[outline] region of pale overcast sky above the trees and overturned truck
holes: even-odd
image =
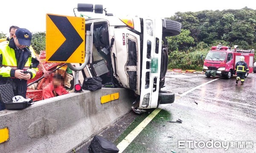
[[[8,34],[12,25],[27,28],[32,33],[46,31],[46,14],[74,16],[78,3],[102,4],[115,16],[171,17],[175,12],[241,9],[256,10],[254,0],[1,0],[0,32]],[[77,12],[76,15],[93,13]]]

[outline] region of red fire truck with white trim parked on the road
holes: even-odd
[[[253,72],[253,50],[241,50],[234,46],[231,49],[228,46],[212,46],[204,59],[203,71],[207,77],[224,76],[230,79],[233,75],[236,75],[235,65],[240,60],[240,57],[244,56],[245,62],[249,67],[249,72],[245,74],[245,77],[249,73]]]

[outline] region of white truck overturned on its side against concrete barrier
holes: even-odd
[[[137,111],[174,102],[175,94],[161,91],[161,88],[168,65],[166,37],[180,34],[179,22],[150,17],[115,17],[102,5],[93,7],[93,4],[79,3],[77,11],[105,11],[106,15],[85,18],[90,46],[86,46],[88,63],[85,71],[82,70],[84,77],[99,76],[103,85],[113,83],[115,88],[130,89],[137,97],[134,102]]]

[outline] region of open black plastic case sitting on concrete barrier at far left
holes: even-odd
[[[0,85],[0,99],[4,102],[6,109],[8,110],[19,110],[24,109],[31,104],[29,102],[13,102],[14,97],[12,86],[10,84]]]

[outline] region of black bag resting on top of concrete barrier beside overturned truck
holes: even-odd
[[[102,78],[100,77],[87,77],[83,82],[83,89],[89,91],[96,91],[102,88]]]

